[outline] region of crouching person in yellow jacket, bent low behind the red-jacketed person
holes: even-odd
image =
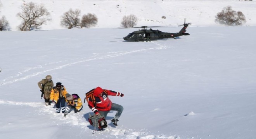
[[[64,113],[64,117],[70,112],[71,109],[74,109],[74,112],[80,112],[83,109],[83,103],[81,98],[77,94],[70,95],[69,93],[66,94],[66,102],[67,107]]]

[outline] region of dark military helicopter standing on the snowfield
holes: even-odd
[[[166,38],[174,38],[183,35],[190,35],[186,33],[187,27],[191,23],[186,23],[186,19],[184,19],[183,28],[178,33],[169,33],[169,32],[162,32],[159,30],[147,29],[147,26],[142,27],[131,27],[131,28],[142,28],[139,31],[133,31],[132,33],[128,34],[126,37],[123,37],[125,41],[150,41],[150,40],[157,40],[157,39],[166,39]],[[179,26],[182,26],[179,25]],[[173,27],[173,26],[152,26],[152,27]],[[126,28],[127,29],[127,28]]]

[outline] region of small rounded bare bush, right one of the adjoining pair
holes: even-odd
[[[98,18],[95,14],[88,13],[87,15],[83,15],[81,20],[81,28],[86,27],[89,28],[91,26],[97,25]]]

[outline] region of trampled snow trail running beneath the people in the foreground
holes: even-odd
[[[55,108],[52,106],[45,106],[42,102],[12,102],[12,101],[4,101],[0,100],[0,105],[21,105],[21,106],[29,106],[29,107],[38,107],[37,113],[39,115],[50,115],[51,119],[54,119],[56,124],[58,124],[58,121],[64,124],[68,125],[75,125],[80,126],[81,128],[91,131],[87,126],[90,125],[89,122],[85,121],[83,116],[80,114],[71,113],[68,115],[68,117],[64,117],[59,113],[55,113]],[[159,110],[159,109],[155,109]],[[190,112],[191,113],[191,112]],[[83,122],[81,122],[83,120]],[[147,132],[137,132],[133,131],[132,129],[117,129],[117,128],[107,128],[104,132],[109,132],[110,135],[116,136],[125,136],[127,139],[180,139],[180,137],[175,136],[165,136],[165,135],[148,135]],[[102,132],[97,132],[96,134],[101,134]]]

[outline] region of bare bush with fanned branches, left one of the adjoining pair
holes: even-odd
[[[81,10],[79,9],[76,9],[75,11],[73,11],[72,9],[69,9],[69,11],[65,12],[62,15],[61,25],[63,27],[67,27],[68,29],[72,29],[73,27],[79,27],[80,14],[81,14]]]

